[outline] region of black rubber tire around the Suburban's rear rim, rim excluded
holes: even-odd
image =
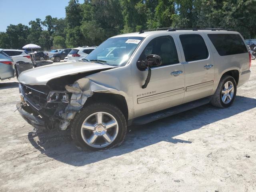
[[[233,95],[231,101],[229,103],[225,104],[222,101],[222,88],[223,88],[224,84],[228,81],[232,82],[234,85],[234,95]],[[216,89],[216,92],[211,97],[210,103],[213,106],[218,107],[218,108],[227,108],[234,102],[235,97],[236,97],[236,81],[232,76],[225,75],[225,76],[222,76],[222,78],[220,79],[219,85]]]

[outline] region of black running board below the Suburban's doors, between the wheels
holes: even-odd
[[[202,98],[199,100],[195,100],[192,102],[188,102],[188,103],[185,103],[182,105],[178,105],[175,107],[171,107],[171,108],[168,108],[165,110],[161,110],[158,112],[154,112],[151,114],[147,114],[147,115],[135,118],[131,124],[143,125],[143,124],[150,123],[150,122],[158,120],[158,119],[162,119],[162,118],[165,118],[168,116],[178,114],[180,112],[184,112],[184,111],[208,104],[209,102],[210,102],[210,97],[205,97],[205,98]]]

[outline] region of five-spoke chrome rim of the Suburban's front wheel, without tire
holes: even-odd
[[[88,116],[81,126],[84,142],[94,148],[111,144],[118,134],[116,118],[107,112],[96,112]]]

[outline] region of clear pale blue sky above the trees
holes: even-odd
[[[69,0],[0,0],[0,32],[10,24],[28,25],[31,20],[45,16],[64,18]],[[79,0],[83,3],[83,0]]]

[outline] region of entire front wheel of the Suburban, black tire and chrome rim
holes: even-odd
[[[70,122],[71,137],[80,150],[104,150],[119,146],[127,131],[120,109],[108,103],[83,108]]]

